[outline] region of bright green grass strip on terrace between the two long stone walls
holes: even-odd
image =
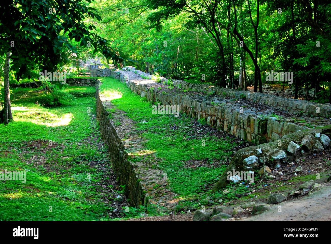
[[[186,168],[185,162],[208,160],[212,163],[223,156],[229,157],[235,143],[229,137],[219,139],[208,133],[203,138],[191,137],[195,130],[190,127],[191,118],[152,114],[152,105],[132,93],[124,83],[113,78],[102,78],[101,81],[101,93],[136,122],[137,130],[146,139],[145,149],[160,159],[159,168],[166,172],[171,190],[184,200],[203,199],[210,195],[205,185],[213,185],[226,167]],[[173,126],[178,129],[173,130]],[[206,146],[202,146],[202,140]],[[135,157],[135,160],[146,159]]]

